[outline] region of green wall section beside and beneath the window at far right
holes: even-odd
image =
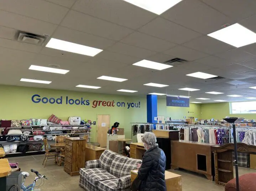
[[[202,119],[223,119],[229,117],[244,117],[245,119],[256,119],[256,114],[230,114],[229,102],[206,103],[201,106]]]

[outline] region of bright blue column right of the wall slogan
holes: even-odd
[[[157,117],[157,95],[147,95],[147,123],[155,123],[154,117]]]

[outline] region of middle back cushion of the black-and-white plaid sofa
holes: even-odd
[[[124,164],[126,164],[127,159],[127,157],[124,157],[122,155],[116,155],[113,159],[113,162],[111,163],[109,172],[114,176],[120,178],[122,168],[124,167]]]

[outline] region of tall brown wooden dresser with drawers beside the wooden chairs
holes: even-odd
[[[79,175],[79,169],[85,167],[86,142],[80,137],[66,139],[64,171],[70,176]]]

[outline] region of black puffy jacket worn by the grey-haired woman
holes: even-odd
[[[138,179],[141,180],[139,191],[166,191],[165,166],[166,157],[163,150],[158,148],[158,145],[148,149],[138,172]]]

